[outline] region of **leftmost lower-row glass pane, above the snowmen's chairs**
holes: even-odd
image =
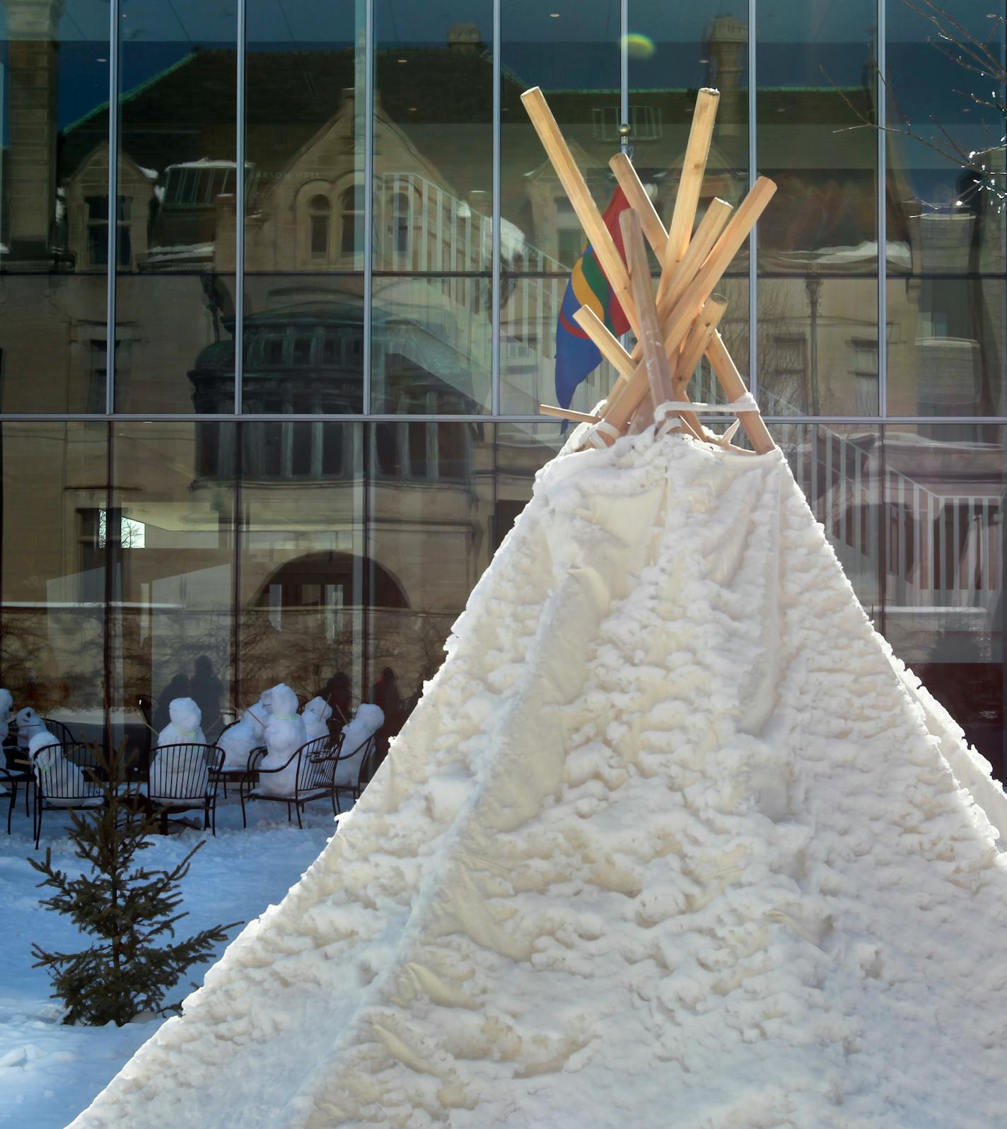
[[[102,423],[5,423],[0,660],[15,709],[100,737],[108,495]]]

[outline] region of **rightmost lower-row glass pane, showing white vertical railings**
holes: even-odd
[[[885,627],[899,655],[1004,771],[1004,429],[885,429]]]

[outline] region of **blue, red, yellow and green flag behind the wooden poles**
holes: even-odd
[[[622,246],[619,217],[625,208],[629,208],[629,201],[623,195],[622,189],[616,189],[612,202],[602,217],[605,227],[612,233],[623,262],[625,262],[625,251]],[[622,306],[616,301],[615,291],[610,286],[589,243],[585,244],[580,257],[573,264],[555,327],[555,395],[561,408],[570,406],[577,385],[586,380],[602,362],[598,347],[573,321],[573,314],[581,306],[593,309],[616,338],[629,329]]]

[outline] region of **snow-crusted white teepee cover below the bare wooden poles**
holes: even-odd
[[[647,419],[540,473],[339,833],[75,1127],[1007,1123],[1004,794],[758,413],[669,431],[708,296],[663,367],[627,231]]]

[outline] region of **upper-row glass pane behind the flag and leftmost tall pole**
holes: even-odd
[[[557,317],[584,233],[520,94],[542,87],[604,209],[615,186],[608,159],[619,148],[619,5],[585,0],[554,17],[537,0],[510,0],[500,34],[500,409],[535,414],[541,402],[555,402]],[[593,408],[614,378],[603,362],[572,406]]]

